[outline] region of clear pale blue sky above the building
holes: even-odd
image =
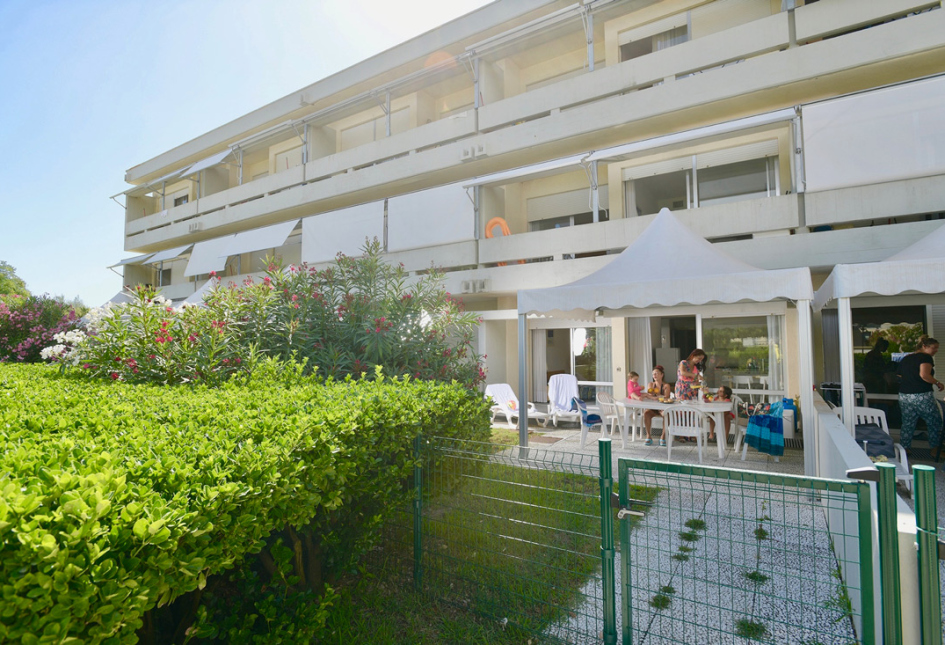
[[[487,3],[0,0],[0,260],[104,303],[125,170]]]

